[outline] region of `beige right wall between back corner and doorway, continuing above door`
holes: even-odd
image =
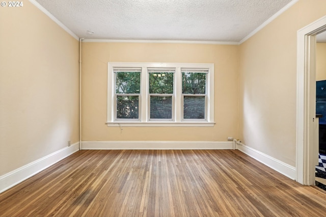
[[[326,1],[300,0],[240,45],[240,139],[295,166],[296,32],[326,15]]]

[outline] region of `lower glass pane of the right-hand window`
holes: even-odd
[[[183,97],[183,119],[205,119],[205,96]]]

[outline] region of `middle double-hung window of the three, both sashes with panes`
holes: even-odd
[[[173,121],[175,69],[148,68],[149,120]]]

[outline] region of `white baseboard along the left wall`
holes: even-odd
[[[14,185],[34,176],[42,170],[50,167],[63,158],[75,153],[79,150],[79,142],[72,144],[70,147],[63,148],[59,151],[51,153],[45,157],[31,162],[28,165],[20,167],[5,175],[0,176],[0,193],[13,187]]]

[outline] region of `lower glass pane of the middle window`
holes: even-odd
[[[172,96],[151,96],[151,119],[172,119]]]

